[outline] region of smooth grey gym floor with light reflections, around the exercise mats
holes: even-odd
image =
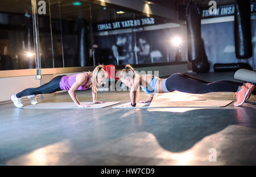
[[[195,76],[233,80],[233,73]],[[77,95],[82,102],[92,101],[90,90]],[[218,92],[196,98],[232,96]],[[71,102],[67,93],[38,100]],[[129,102],[129,92],[98,92],[98,100]],[[232,103],[207,109],[19,109],[1,104],[0,165],[256,165],[255,115],[255,95],[241,107]]]

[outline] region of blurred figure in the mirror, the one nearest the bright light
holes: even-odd
[[[150,44],[147,43],[146,37],[139,37],[138,46],[135,46],[134,50],[138,52],[138,63],[150,62]]]

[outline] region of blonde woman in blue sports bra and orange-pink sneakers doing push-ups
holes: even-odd
[[[234,106],[242,105],[249,99],[251,93],[255,94],[255,86],[251,83],[240,83],[233,81],[207,82],[199,78],[192,77],[185,73],[175,73],[167,79],[161,79],[154,75],[137,74],[131,65],[126,65],[119,76],[121,82],[130,90],[131,106],[135,107],[139,97],[139,87],[150,97],[140,103],[151,102],[155,93],[172,91],[186,92],[189,94],[205,94],[208,92],[235,92],[237,102]]]

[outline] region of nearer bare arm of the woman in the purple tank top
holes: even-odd
[[[68,94],[71,97],[71,99],[73,100],[73,102],[76,104],[76,106],[78,107],[88,107],[88,106],[84,106],[82,105],[79,100],[76,98],[76,91],[77,89],[85,83],[85,81],[87,80],[87,75],[77,75],[76,76],[76,82],[72,85],[72,87],[68,90]]]

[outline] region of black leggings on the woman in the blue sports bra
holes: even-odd
[[[207,82],[185,73],[172,74],[166,80],[168,91],[181,91],[189,94],[205,94],[208,92],[237,92],[243,83],[233,81]]]

